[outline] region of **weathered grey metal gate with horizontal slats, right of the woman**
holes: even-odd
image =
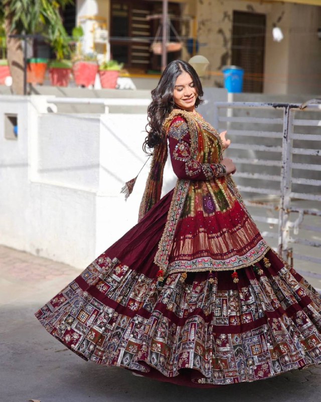
[[[321,105],[214,107],[214,127],[228,130],[226,156],[238,166],[235,181],[263,237],[321,288]]]

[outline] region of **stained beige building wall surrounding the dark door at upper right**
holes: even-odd
[[[321,26],[321,7],[281,2],[198,1],[200,54],[209,59],[210,70],[214,73],[208,77],[208,86],[222,85],[223,78],[215,72],[231,64],[233,11],[266,15],[265,93],[321,92],[321,41],[316,35]],[[281,42],[273,41],[274,24],[284,34]]]

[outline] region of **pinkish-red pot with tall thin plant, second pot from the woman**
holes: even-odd
[[[83,54],[80,42],[84,36],[84,31],[81,26],[73,29],[72,36],[76,43],[72,67],[76,85],[93,86],[98,72],[97,57],[94,53]]]

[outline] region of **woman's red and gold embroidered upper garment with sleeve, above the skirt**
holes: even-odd
[[[222,160],[217,131],[199,114],[175,110],[164,124],[178,176],[155,263],[173,272],[235,270],[268,250]]]

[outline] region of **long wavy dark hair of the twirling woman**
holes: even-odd
[[[152,100],[147,109],[147,137],[142,146],[146,153],[150,153],[148,150],[156,147],[165,140],[162,126],[164,120],[169,116],[172,110],[176,108],[173,99],[174,87],[178,76],[181,75],[182,72],[190,74],[194,82],[198,94],[195,106],[198,107],[198,105],[203,102],[203,100],[200,99],[200,97],[203,96],[201,80],[191,64],[183,60],[175,60],[169,63],[163,71],[156,88],[151,91]]]

